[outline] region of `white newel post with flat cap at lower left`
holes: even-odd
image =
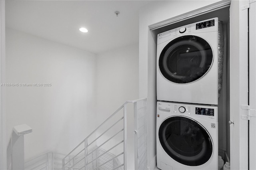
[[[13,127],[7,146],[7,169],[24,170],[24,134],[32,132],[28,125]]]

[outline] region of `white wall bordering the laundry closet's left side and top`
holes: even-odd
[[[148,126],[149,169],[156,166],[156,35],[148,26],[218,1],[156,1],[140,10],[139,97],[148,98],[148,125],[151,125]]]

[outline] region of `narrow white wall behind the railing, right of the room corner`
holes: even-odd
[[[130,45],[128,47],[122,47],[97,55],[97,126],[100,125],[100,123],[102,123],[112,113],[114,113],[114,111],[116,111],[126,101],[138,99],[138,56],[138,44]],[[118,114],[122,115],[122,113],[123,110],[121,110]],[[133,105],[129,104],[127,114],[128,170],[134,169],[133,118]],[[111,122],[115,123],[114,120],[116,119],[111,119]],[[122,128],[120,127],[119,129]],[[114,133],[112,133],[108,137],[105,137],[105,140],[112,135],[114,135]],[[118,142],[120,141],[118,139],[116,140]],[[114,146],[113,143],[114,142],[112,142],[112,146]],[[110,146],[106,147],[110,148]],[[113,153],[117,155],[120,153],[120,150],[114,150]],[[122,160],[120,160],[120,162],[122,162]]]

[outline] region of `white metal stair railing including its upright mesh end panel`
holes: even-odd
[[[134,127],[130,127],[134,136],[134,157],[128,160],[127,155],[127,104],[134,104]],[[147,169],[147,111],[146,99],[127,101],[119,107],[98,128],[89,134],[62,160],[62,170],[120,170]],[[132,115],[129,113],[129,115]],[[131,136],[130,136],[131,138]],[[129,138],[129,140],[130,140]],[[91,149],[91,147],[96,149]],[[104,149],[102,149],[104,148]],[[90,151],[92,150],[92,151]],[[97,154],[94,153],[98,150]],[[80,155],[83,156],[80,156]],[[66,158],[71,156],[71,160]],[[80,159],[76,160],[76,157]],[[120,162],[116,161],[119,160]],[[75,161],[71,163],[70,162]],[[128,165],[133,161],[134,166]],[[129,167],[128,167],[129,166]]]

